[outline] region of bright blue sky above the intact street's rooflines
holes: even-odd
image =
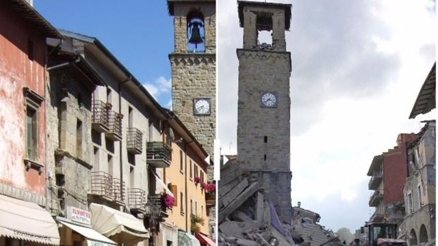
[[[58,29],[98,38],[169,107],[173,18],[166,1],[35,0],[34,8]]]

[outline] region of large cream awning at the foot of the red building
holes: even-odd
[[[0,236],[60,245],[57,224],[47,210],[5,195],[0,195]]]

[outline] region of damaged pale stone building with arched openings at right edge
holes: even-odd
[[[427,122],[411,143],[408,152],[408,177],[404,184],[403,234],[409,245],[435,241],[436,172],[435,120]]]

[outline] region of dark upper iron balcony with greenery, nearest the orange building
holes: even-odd
[[[170,167],[172,148],[162,141],[148,142],[146,148],[146,163],[153,167]]]

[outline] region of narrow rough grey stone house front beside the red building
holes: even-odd
[[[92,92],[68,67],[50,70],[47,97],[49,208],[65,216],[66,206],[88,210],[92,169]],[[81,132],[77,124],[81,122]],[[79,139],[78,139],[79,137]],[[78,146],[77,144],[81,146]]]

